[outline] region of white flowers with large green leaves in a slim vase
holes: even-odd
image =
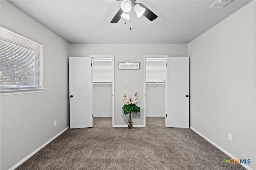
[[[124,106],[123,106],[123,112],[124,115],[127,115],[129,113],[129,121],[128,121],[128,128],[132,128],[132,119],[131,119],[131,113],[138,113],[140,112],[140,107],[136,106],[137,103],[137,92],[134,94],[134,97],[131,99],[128,99],[126,97],[126,93],[124,94]]]

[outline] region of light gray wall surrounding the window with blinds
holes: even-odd
[[[6,170],[69,126],[69,43],[9,2],[0,3],[3,26],[43,44],[43,86],[47,88],[41,93],[1,96],[0,169]]]

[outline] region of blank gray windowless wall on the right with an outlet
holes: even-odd
[[[256,169],[256,4],[250,2],[192,42],[190,126]],[[233,142],[228,140],[233,134]]]

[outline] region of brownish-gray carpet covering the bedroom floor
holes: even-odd
[[[112,128],[112,118],[93,118],[93,128],[68,129],[17,170],[243,170],[189,128],[167,128],[147,117],[145,128]]]

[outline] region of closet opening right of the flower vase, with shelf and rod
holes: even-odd
[[[146,117],[165,117],[166,57],[144,56],[144,121]]]

